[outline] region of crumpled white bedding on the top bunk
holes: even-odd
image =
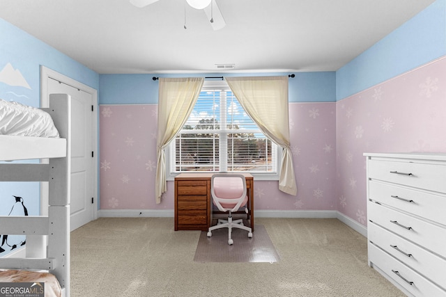
[[[0,134],[60,137],[49,113],[18,102],[0,99]]]

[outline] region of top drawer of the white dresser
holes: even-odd
[[[369,179],[446,193],[446,166],[443,165],[371,159],[368,173]]]

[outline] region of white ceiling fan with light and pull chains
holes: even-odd
[[[155,3],[160,0],[130,0],[134,6],[142,8],[144,6],[148,6],[149,4]],[[217,2],[215,0],[185,0],[190,7],[204,10],[206,16],[209,19],[210,25],[214,30],[220,30],[224,26],[226,26],[226,22],[224,22],[224,18],[220,8],[217,6]],[[186,29],[186,26],[184,26]]]

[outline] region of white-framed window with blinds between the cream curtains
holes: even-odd
[[[171,175],[227,171],[278,177],[277,145],[245,113],[226,81],[204,82],[194,110],[169,150]]]

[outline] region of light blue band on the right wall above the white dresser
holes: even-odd
[[[437,0],[336,72],[337,101],[445,54],[446,0]]]

